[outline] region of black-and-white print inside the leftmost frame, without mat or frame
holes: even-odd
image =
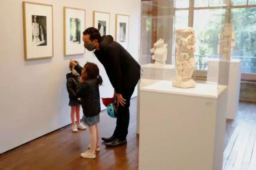
[[[32,15],[32,46],[47,46],[47,18]]]

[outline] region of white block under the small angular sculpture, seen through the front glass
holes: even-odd
[[[145,64],[142,65],[142,79],[174,80],[175,66],[170,64]]]

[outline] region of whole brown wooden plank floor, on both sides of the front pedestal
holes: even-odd
[[[136,98],[132,100],[127,146],[107,149],[96,159],[84,159],[89,131],[71,132],[70,125],[0,155],[0,170],[137,170]],[[256,170],[256,104],[240,103],[234,121],[227,121],[224,170]],[[101,114],[101,136],[111,136],[115,119]],[[168,170],[168,169],[167,169]]]

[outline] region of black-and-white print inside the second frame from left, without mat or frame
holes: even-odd
[[[81,21],[78,18],[70,18],[70,42],[81,43]]]

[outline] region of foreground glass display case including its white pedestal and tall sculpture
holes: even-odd
[[[234,33],[231,1],[218,2],[142,2],[139,170],[222,169]]]

